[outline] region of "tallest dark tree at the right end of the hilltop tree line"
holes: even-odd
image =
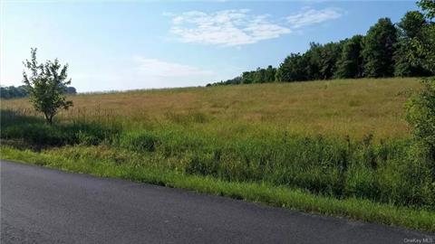
[[[423,38],[423,28],[427,25],[426,19],[419,11],[410,11],[406,13],[401,22],[397,24],[399,27],[399,41],[394,52],[394,75],[395,76],[428,76],[430,71],[422,67],[422,59],[417,54],[416,47],[411,44],[416,40],[421,41]],[[412,41],[414,40],[414,41]],[[411,60],[413,58],[413,60]]]

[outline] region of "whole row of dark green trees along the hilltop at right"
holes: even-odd
[[[431,1],[429,1],[431,2]],[[310,43],[304,53],[291,53],[274,68],[243,72],[234,79],[207,86],[304,80],[427,77],[435,75],[423,63],[430,57],[419,52],[419,45],[430,41],[434,22],[419,11],[404,14],[399,23],[381,18],[364,35],[339,42]]]

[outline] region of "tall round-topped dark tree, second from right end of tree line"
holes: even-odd
[[[396,28],[389,18],[381,18],[364,37],[364,76],[391,77],[394,71],[392,60],[394,44],[397,41]]]

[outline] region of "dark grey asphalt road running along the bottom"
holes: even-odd
[[[145,183],[5,161],[0,168],[2,244],[435,243],[412,230]]]

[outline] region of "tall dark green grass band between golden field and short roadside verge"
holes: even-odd
[[[336,136],[282,134],[233,138],[165,126],[152,130],[123,129],[81,121],[47,126],[32,117],[2,116],[2,138],[22,148],[40,150],[64,145],[105,145],[88,152],[100,160],[101,150],[147,156],[166,169],[190,175],[212,176],[237,183],[269,183],[299,188],[338,199],[358,197],[417,209],[435,209],[433,169],[424,159],[411,158],[410,139],[373,143]],[[32,122],[29,122],[32,121]],[[57,151],[77,157],[71,149]],[[95,147],[90,147],[95,148]],[[82,151],[81,151],[82,152]],[[95,155],[96,154],[96,155]],[[412,155],[413,157],[414,155]]]

